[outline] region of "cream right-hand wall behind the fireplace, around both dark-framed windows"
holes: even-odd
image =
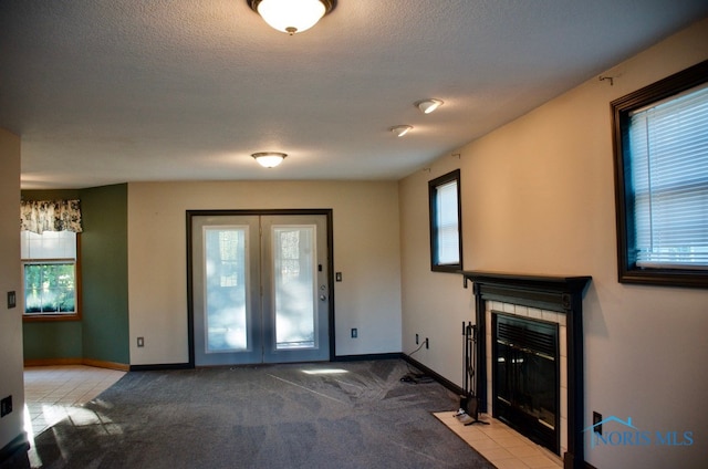
[[[473,319],[471,290],[429,271],[429,179],[461,168],[466,270],[593,277],[584,303],[586,424],[597,410],[695,439],[690,447],[587,444],[585,459],[597,468],[705,465],[708,292],[617,282],[610,102],[706,59],[708,20],[603,73],[614,86],[593,77],[454,152],[459,161],[444,156],[399,184],[404,350],[416,332],[430,334],[418,359],[458,384],[461,353],[446,341]]]

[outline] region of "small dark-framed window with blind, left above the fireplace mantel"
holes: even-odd
[[[430,268],[440,272],[462,270],[460,170],[428,183],[430,201]]]

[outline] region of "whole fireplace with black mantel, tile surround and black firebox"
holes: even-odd
[[[582,306],[591,277],[470,271],[462,275],[466,288],[469,281],[473,283],[478,327],[475,388],[480,411],[504,420],[560,455],[565,469],[583,468]],[[501,344],[497,340],[500,321]],[[534,344],[518,345],[533,335]],[[537,347],[541,350],[529,345],[541,345]],[[551,356],[554,358],[549,359]],[[494,372],[500,358],[503,369]],[[522,364],[532,364],[537,376],[529,377],[529,367]],[[552,384],[553,390],[542,383]],[[510,385],[519,385],[512,395]]]

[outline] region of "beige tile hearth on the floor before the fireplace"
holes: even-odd
[[[454,411],[436,413],[435,416],[499,469],[563,467],[560,457],[486,414],[480,415],[479,419],[490,425],[468,427],[458,421]]]

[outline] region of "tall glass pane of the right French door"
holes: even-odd
[[[273,226],[275,350],[316,347],[315,226]]]

